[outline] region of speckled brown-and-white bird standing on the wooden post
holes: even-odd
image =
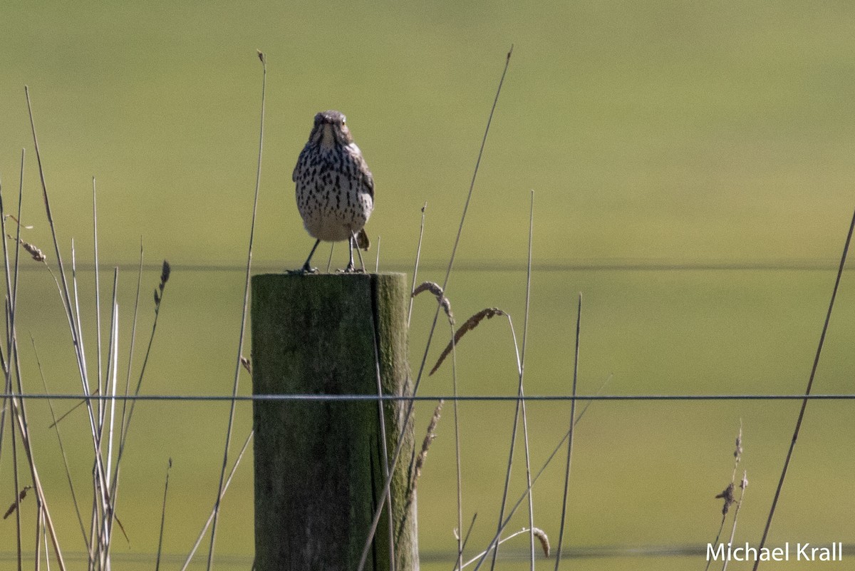
[[[297,209],[315,245],[298,274],[311,274],[312,255],[321,240],[347,240],[351,259],[345,273],[355,272],[353,247],[369,248],[365,223],[374,210],[374,176],[353,142],[345,115],[321,111],[294,167]],[[363,268],[364,271],[364,268]]]

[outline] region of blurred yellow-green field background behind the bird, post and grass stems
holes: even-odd
[[[610,379],[607,393],[798,393],[852,212],[853,22],[849,3],[6,2],[0,8],[3,196],[15,203],[26,148],[23,221],[35,227],[24,238],[54,262],[24,97],[29,85],[63,255],[68,262],[74,238],[78,262],[88,268],[80,290],[90,368],[95,176],[102,285],[120,265],[125,349],[140,237],[150,264],[143,276],[144,331],[159,262],[168,258],[174,266],[143,391],[228,394],[257,167],[256,50],[268,57],[256,270],[303,262],[311,240],[294,208],[291,172],[315,112],[340,109],[374,172],[368,230],[380,242],[380,268],[411,272],[427,201],[420,278],[441,281],[504,56],[514,44],[448,290],[458,321],[498,306],[522,332],[534,190],[529,393],[569,392],[580,291],[581,392],[598,391]],[[328,250],[320,252],[319,264]],[[375,253],[369,252],[372,264]],[[333,264],[344,259],[339,246]],[[21,284],[18,322],[25,384],[41,390],[31,333],[50,388],[78,391],[56,286],[44,268],[31,269]],[[414,368],[432,317],[432,304],[417,299]],[[846,274],[817,392],[852,392],[853,318],[855,287]],[[438,352],[433,347],[429,360]],[[457,357],[463,393],[516,391],[506,323],[482,324]],[[135,370],[139,364],[138,354]],[[126,367],[123,361],[120,370]],[[241,392],[249,387],[244,378]],[[447,394],[450,370],[425,380],[422,391]],[[420,432],[432,408],[417,409]],[[720,518],[713,496],[729,480],[740,420],[751,487],[737,541],[756,544],[798,408],[795,402],[593,404],[577,434],[565,545],[680,548],[711,541]],[[65,550],[80,551],[46,404],[33,402],[30,410]],[[240,444],[251,408],[239,405],[238,412]],[[533,403],[528,413],[532,458],[540,466],[566,430],[569,405]],[[513,404],[465,403],[461,415],[464,520],[479,514],[470,539],[475,552],[495,526]],[[811,403],[773,543],[855,539],[852,419],[846,402]],[[162,480],[172,457],[164,549],[174,554],[174,567],[215,497],[227,404],[141,403],[134,421],[119,505],[130,545],[117,542],[113,552],[123,568],[150,568],[146,556],[156,548]],[[76,415],[65,423],[82,491],[91,467],[85,420]],[[428,569],[455,545],[452,434],[446,404],[419,484]],[[224,505],[218,553],[231,558],[223,568],[247,568],[251,560],[249,460]],[[545,473],[534,502],[535,523],[553,545],[559,463]],[[9,467],[4,454],[3,498],[14,496]],[[517,462],[516,494],[522,469]],[[24,510],[32,515],[33,503]],[[526,522],[521,517],[518,524]],[[0,521],[0,557],[11,552],[12,538],[11,523]],[[519,553],[523,545],[506,552]],[[638,555],[581,559],[575,567],[703,564],[700,556]]]

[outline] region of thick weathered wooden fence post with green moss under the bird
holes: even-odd
[[[254,276],[253,393],[376,395],[376,339],[384,394],[404,394],[408,294],[404,274]],[[384,404],[388,453],[404,439],[392,479],[396,568],[414,571],[404,409]],[[257,401],[253,411],[256,569],[353,571],[384,481],[377,402]],[[386,517],[367,569],[389,568]]]

